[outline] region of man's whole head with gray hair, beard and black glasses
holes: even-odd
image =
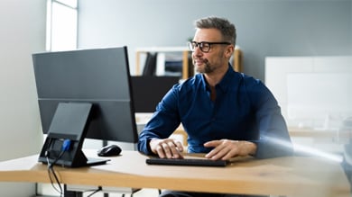
[[[235,49],[235,25],[214,16],[199,19],[195,25],[196,33],[190,42],[195,70],[208,75],[224,74]]]

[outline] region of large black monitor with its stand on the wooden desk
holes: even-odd
[[[101,164],[106,160],[84,156],[85,138],[137,142],[126,47],[44,52],[32,60],[42,131],[48,134],[39,161],[55,161],[69,141],[58,165]]]

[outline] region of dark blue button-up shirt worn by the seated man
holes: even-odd
[[[155,87],[157,88],[157,87]],[[157,105],[139,136],[138,150],[153,154],[150,139],[165,139],[182,123],[188,151],[208,153],[203,144],[215,139],[252,141],[255,157],[292,154],[292,143],[273,94],[260,81],[237,73],[231,65],[216,88],[216,100],[202,74],[174,85]]]

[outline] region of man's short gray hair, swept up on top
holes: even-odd
[[[198,19],[194,22],[198,29],[217,29],[225,41],[229,41],[236,45],[236,27],[233,23],[225,18],[216,16],[208,16],[206,18]]]

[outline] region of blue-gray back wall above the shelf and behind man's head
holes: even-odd
[[[193,21],[218,15],[236,24],[245,73],[264,80],[266,56],[352,54],[351,0],[79,1],[79,48],[185,46]]]

